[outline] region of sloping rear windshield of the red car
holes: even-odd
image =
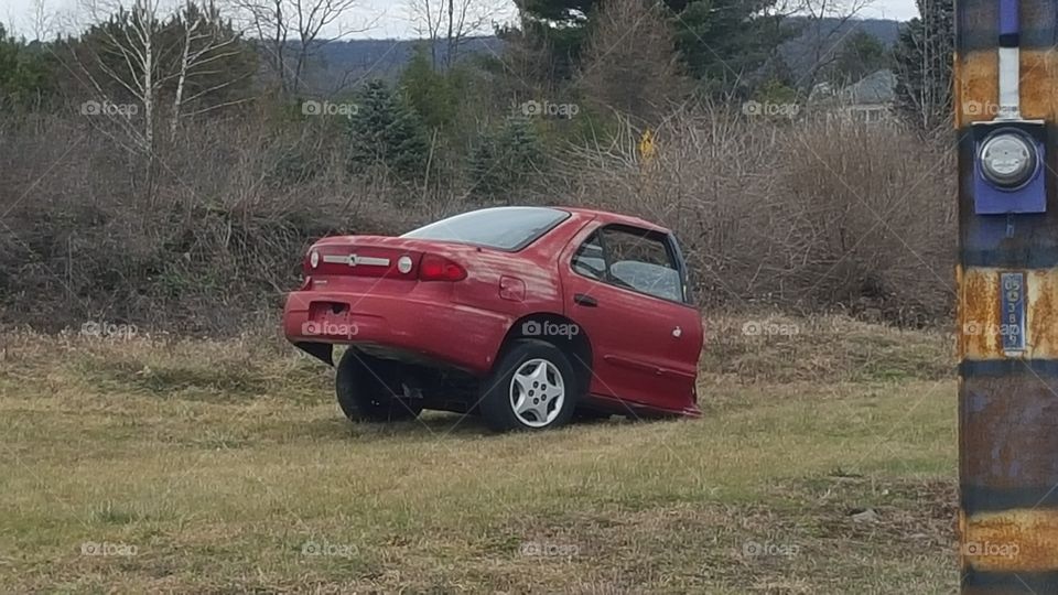
[[[498,250],[517,251],[536,241],[569,216],[569,213],[555,208],[484,208],[441,219],[401,237],[473,244]]]

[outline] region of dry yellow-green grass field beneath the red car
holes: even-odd
[[[710,323],[701,420],[504,436],[353,425],[274,338],[9,333],[0,589],[956,591],[949,340],[768,324]]]

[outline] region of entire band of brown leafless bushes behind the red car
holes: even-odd
[[[596,206],[671,227],[706,309],[867,311],[905,324],[949,313],[956,188],[942,143],[890,126],[723,109],[666,121],[648,164],[630,127],[558,150],[533,121],[508,118],[483,137],[471,180],[414,196],[399,181],[349,174],[343,121],[252,116],[188,128],[160,147],[154,178],[76,119],[8,126],[2,321],[239,332],[279,309],[314,239],[400,232],[497,201]],[[53,169],[42,177],[44,164]]]

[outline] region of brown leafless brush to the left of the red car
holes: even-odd
[[[376,192],[345,172],[326,123],[250,117],[182,130],[159,139],[169,144],[152,176],[94,131],[47,118],[0,140],[11,149],[0,173],[9,322],[239,332],[279,307],[314,239],[390,232],[413,218],[387,199],[399,190]]]

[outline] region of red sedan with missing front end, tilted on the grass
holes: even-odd
[[[305,255],[287,337],[337,366],[355,421],[423,409],[498,431],[585,416],[701,414],[702,318],[667,229],[582,208],[499,207]]]

